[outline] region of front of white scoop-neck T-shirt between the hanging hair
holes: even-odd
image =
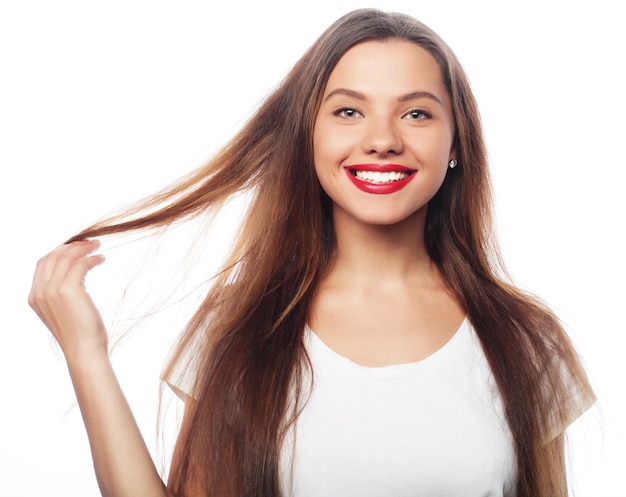
[[[313,386],[283,447],[288,497],[513,496],[502,402],[466,319],[422,361],[365,367],[307,327]]]

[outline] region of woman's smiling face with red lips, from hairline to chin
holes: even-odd
[[[313,131],[315,170],[338,214],[367,224],[425,215],[446,175],[454,123],[435,59],[401,40],[339,60]]]

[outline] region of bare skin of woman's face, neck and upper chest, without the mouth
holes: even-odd
[[[359,364],[422,360],[463,321],[424,244],[428,202],[456,158],[453,139],[439,67],[418,45],[365,42],[331,73],[313,144],[318,178],[333,201],[337,253],[309,324]],[[366,193],[344,167],[371,163],[400,164],[415,177],[395,193]]]

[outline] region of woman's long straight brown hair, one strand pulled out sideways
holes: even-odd
[[[168,483],[177,496],[280,495],[280,449],[308,367],[307,312],[335,248],[330,200],[313,167],[313,124],[341,56],[358,43],[390,39],[428,50],[452,101],[460,167],[429,204],[425,240],[499,386],[517,457],[517,495],[567,493],[562,433],[572,395],[583,405],[593,393],[558,320],[513,286],[500,264],[480,117],[467,77],[429,28],[366,9],[323,33],[206,166],[123,217],[73,237],[168,226],[217,208],[236,192],[253,192],[232,255],[170,363],[171,369],[193,344],[197,401],[186,411]]]

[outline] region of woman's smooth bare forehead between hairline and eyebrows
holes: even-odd
[[[396,96],[430,91],[442,101],[448,99],[435,58],[405,40],[366,41],[350,48],[331,72],[324,93],[341,87]]]

